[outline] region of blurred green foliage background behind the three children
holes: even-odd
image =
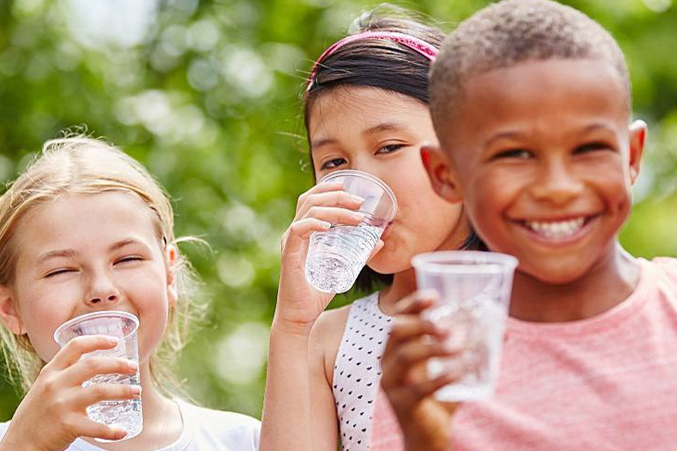
[[[446,31],[487,3],[396,2]],[[651,130],[623,244],[646,257],[677,255],[677,6],[564,3],[616,36],[630,64],[635,114]],[[183,247],[212,309],[179,369],[208,407],[260,415],[279,237],[312,184],[299,93],[313,58],[377,4],[0,0],[0,180],[74,125],[157,175],[176,201],[178,235],[202,237],[213,249]],[[17,404],[16,390],[0,380],[0,421]]]

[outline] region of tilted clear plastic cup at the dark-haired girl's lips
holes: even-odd
[[[350,290],[367,264],[383,230],[395,217],[397,201],[390,187],[369,173],[336,171],[319,180],[327,182],[341,182],[343,190],[365,199],[359,210],[365,219],[358,226],[335,224],[310,236],[305,261],[308,282],[322,292],[342,293]]]

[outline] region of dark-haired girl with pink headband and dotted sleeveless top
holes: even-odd
[[[411,257],[472,240],[461,204],[445,202],[432,190],[419,154],[423,143],[437,142],[427,75],[444,35],[412,20],[379,16],[366,16],[358,29],[315,63],[305,125],[316,180],[357,169],[394,191],[397,216],[358,279],[362,286],[376,278],[387,285],[323,313],[333,295],[305,280],[308,240],[331,223],[360,223],[355,215],[360,202],[335,183],[302,194],[282,240],[262,425],[265,450],[335,451],[339,440],[346,451],[367,449],[390,315],[415,289]]]

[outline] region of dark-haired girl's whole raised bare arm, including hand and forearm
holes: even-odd
[[[311,373],[310,330],[333,295],[319,292],[305,280],[305,255],[313,232],[327,230],[329,223],[357,224],[361,217],[352,210],[356,201],[340,185],[313,187],[298,199],[296,216],[282,238],[280,286],[269,345],[266,396],[264,400],[261,451],[317,451],[331,443],[331,437],[311,432],[312,424],[324,424],[324,416],[314,418],[317,404],[312,386],[317,374]],[[319,385],[318,385],[319,386]],[[312,393],[312,398],[311,398]],[[331,392],[328,394],[331,396]],[[319,392],[317,396],[322,396]],[[333,399],[333,398],[332,398]],[[312,400],[312,402],[311,402]],[[329,407],[334,408],[333,401]],[[330,434],[331,435],[331,434]],[[334,434],[336,435],[336,434]],[[336,437],[334,437],[336,443]],[[331,451],[336,451],[336,446]]]

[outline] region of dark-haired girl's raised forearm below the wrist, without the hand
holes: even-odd
[[[260,451],[312,451],[309,336],[307,328],[273,323]]]

